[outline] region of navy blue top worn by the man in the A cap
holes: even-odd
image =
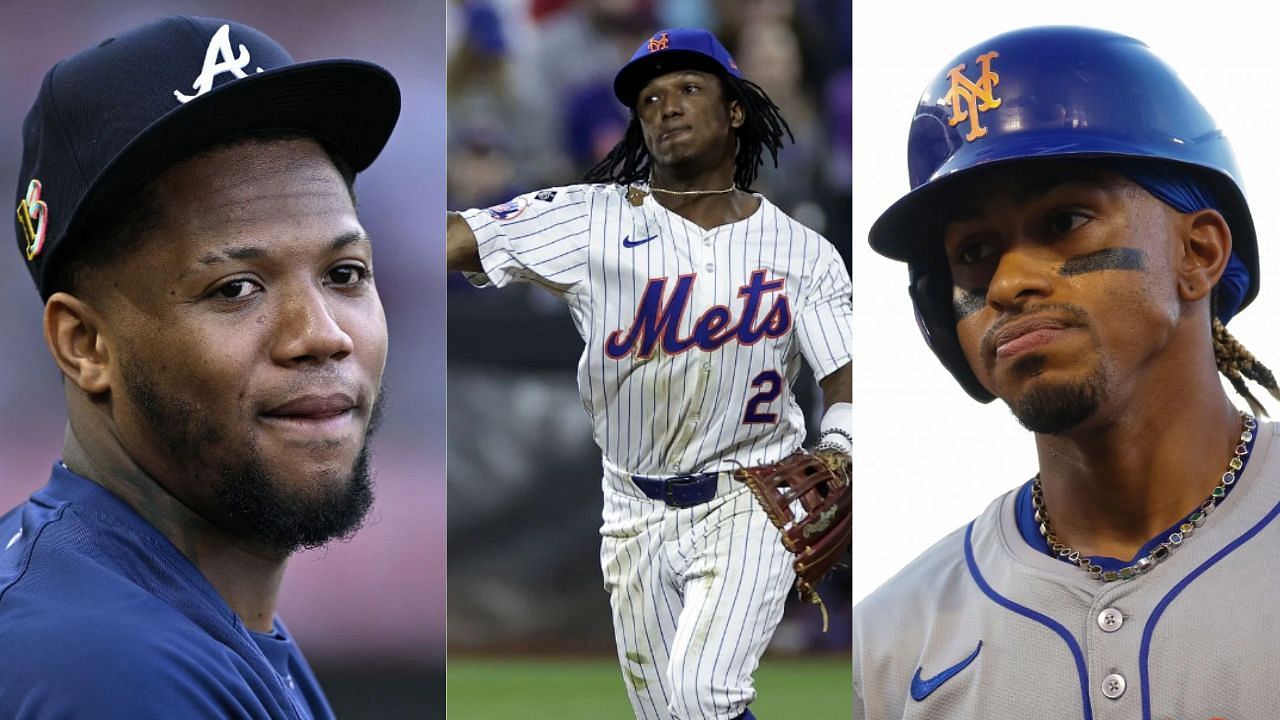
[[[0,717],[332,719],[284,625],[248,630],[122,500],[60,462],[0,518]]]

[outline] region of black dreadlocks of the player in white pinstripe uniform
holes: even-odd
[[[733,183],[742,190],[751,190],[751,183],[764,164],[763,151],[768,150],[773,167],[778,167],[778,150],[782,149],[783,135],[795,142],[791,127],[782,118],[778,106],[769,100],[764,90],[749,79],[719,76],[730,100],[742,104],[745,119],[737,128],[737,155],[733,158]],[[585,182],[612,182],[631,184],[649,179],[649,149],[644,145],[644,133],[635,111],[622,140],[609,150],[603,160],[595,164],[582,178]]]

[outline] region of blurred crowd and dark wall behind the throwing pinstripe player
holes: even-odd
[[[707,27],[795,145],[754,190],[850,254],[847,0],[460,0],[447,9],[448,206],[571,184],[621,137],[613,76],[655,31]],[[563,304],[449,278],[449,652],[613,652],[599,568],[600,456]],[[817,384],[795,387],[817,427]],[[771,652],[849,653],[849,577],[788,609]],[[621,689],[620,689],[621,692]]]

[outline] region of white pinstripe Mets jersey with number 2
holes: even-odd
[[[669,475],[795,451],[800,356],[819,378],[850,359],[840,254],[764,197],[713,229],[634,197],[576,184],[462,217],[489,282],[532,282],[570,306],[586,343],[579,389],[607,462]]]

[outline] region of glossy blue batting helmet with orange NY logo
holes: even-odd
[[[881,255],[905,260],[929,347],[974,398],[991,401],[956,337],[942,251],[940,192],[973,172],[1034,159],[1171,163],[1217,197],[1233,254],[1248,270],[1240,307],[1258,292],[1258,247],[1231,146],[1174,70],[1114,32],[1038,27],[996,36],[933,78],[911,119],[911,191],[870,231]]]

